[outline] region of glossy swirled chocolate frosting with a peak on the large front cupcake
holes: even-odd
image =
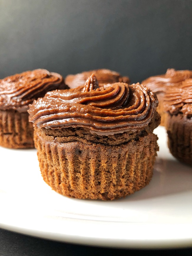
[[[139,83],[98,85],[94,74],[85,86],[46,93],[30,105],[33,126],[83,127],[98,135],[142,129],[151,121],[157,97]]]

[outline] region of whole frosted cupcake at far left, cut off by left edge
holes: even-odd
[[[15,74],[0,80],[0,145],[34,148],[28,106],[49,90],[65,89],[61,75],[45,69]]]

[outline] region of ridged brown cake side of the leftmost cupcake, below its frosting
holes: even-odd
[[[34,148],[33,125],[27,112],[0,110],[0,145],[6,148]]]

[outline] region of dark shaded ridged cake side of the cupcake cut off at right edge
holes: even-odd
[[[192,165],[192,119],[182,114],[167,117],[168,147],[179,161]]]

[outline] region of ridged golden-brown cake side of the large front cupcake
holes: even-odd
[[[113,200],[133,194],[152,178],[158,150],[153,133],[113,146],[80,141],[61,143],[50,137],[35,127],[41,174],[62,195]]]

